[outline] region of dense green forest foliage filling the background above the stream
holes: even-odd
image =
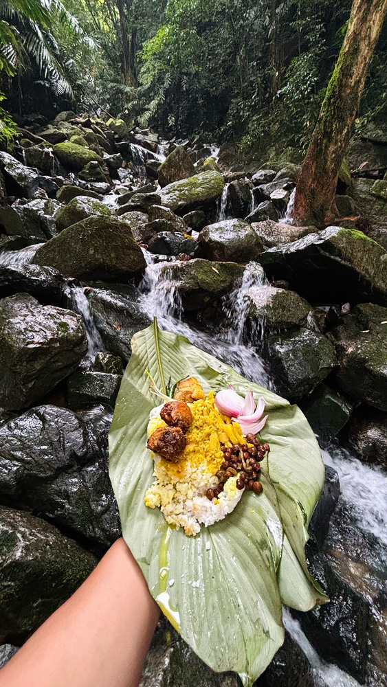
[[[273,147],[305,149],[350,9],[350,0],[2,2],[4,106],[17,121],[76,103],[78,113],[263,157]],[[386,116],[386,41],[384,27],[359,132]],[[6,118],[3,137],[9,126]]]

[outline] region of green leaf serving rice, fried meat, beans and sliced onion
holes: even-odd
[[[296,405],[156,321],[131,347],[109,433],[122,534],[181,637],[250,686],[283,643],[282,605],[328,600],[305,561],[318,443]]]

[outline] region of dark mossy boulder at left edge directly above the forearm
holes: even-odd
[[[97,561],[54,526],[0,506],[0,642],[25,640],[89,576]]]

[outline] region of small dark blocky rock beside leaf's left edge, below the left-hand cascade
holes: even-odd
[[[121,380],[122,374],[74,372],[67,379],[69,407],[78,409],[102,404],[114,409]]]

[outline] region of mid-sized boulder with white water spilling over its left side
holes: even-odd
[[[286,330],[307,324],[311,306],[294,291],[275,286],[251,286],[245,293],[246,330],[244,335],[252,339],[261,335],[265,328]]]

